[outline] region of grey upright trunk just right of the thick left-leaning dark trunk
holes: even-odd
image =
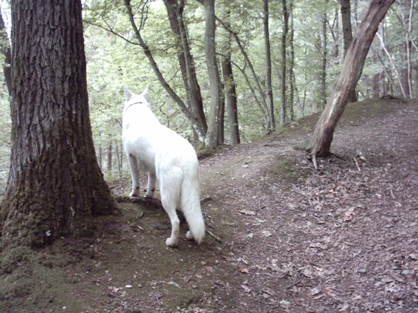
[[[204,0],[205,6],[205,58],[208,67],[210,86],[210,111],[208,133],[205,143],[213,149],[219,145],[219,127],[221,119],[221,78],[217,67],[215,50],[215,0]]]

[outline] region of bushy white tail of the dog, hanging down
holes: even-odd
[[[196,161],[190,166],[183,177],[180,204],[190,228],[188,238],[194,238],[199,244],[205,236],[205,221],[200,205],[199,163]]]

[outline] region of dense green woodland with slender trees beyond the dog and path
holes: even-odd
[[[214,131],[212,146],[251,142],[324,108],[369,6],[357,0],[219,0],[213,8],[215,40],[206,41],[206,2],[212,1],[83,2],[91,126],[107,177],[127,172],[121,149],[123,86],[140,93],[149,85],[160,121],[196,144]],[[2,8],[7,29],[10,10],[7,3]],[[413,0],[389,8],[353,99],[417,96],[415,12]],[[10,113],[2,86],[4,189]]]

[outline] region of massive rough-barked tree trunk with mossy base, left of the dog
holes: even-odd
[[[93,147],[82,3],[11,2],[12,155],[0,207],[3,246],[90,236],[116,203]]]

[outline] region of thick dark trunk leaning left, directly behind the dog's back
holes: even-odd
[[[194,59],[190,51],[189,40],[187,39],[187,30],[183,22],[184,0],[164,0],[169,16],[171,31],[178,35],[177,54],[180,71],[185,85],[187,104],[192,111],[192,115],[196,121],[201,125],[201,128],[206,132],[208,124],[206,122],[205,112],[203,110],[203,99],[201,89],[196,77],[196,67],[194,66]]]

